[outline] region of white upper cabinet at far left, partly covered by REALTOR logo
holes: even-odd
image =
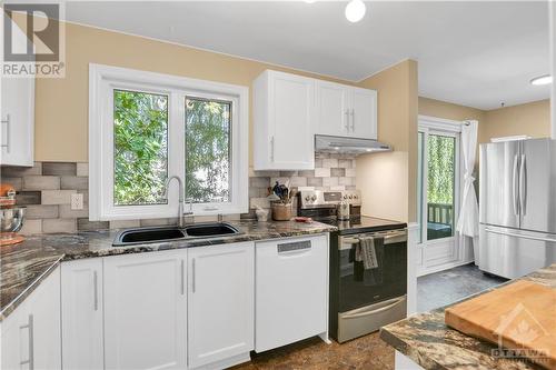
[[[21,44],[12,48],[26,50],[24,33],[18,27],[12,31],[13,42]],[[2,77],[1,92],[0,163],[33,166],[34,78]]]

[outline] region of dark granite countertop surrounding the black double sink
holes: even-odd
[[[320,222],[295,221],[256,222],[230,221],[240,234],[186,239],[161,243],[112,247],[118,230],[79,233],[40,234],[28,237],[19,244],[0,249],[0,321],[10,314],[61,261],[125,253],[152,252],[168,249],[288,238],[336,231]]]

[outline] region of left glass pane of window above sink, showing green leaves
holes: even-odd
[[[116,206],[162,203],[168,173],[168,97],[115,90]]]

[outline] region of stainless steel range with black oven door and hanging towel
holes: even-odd
[[[406,223],[361,216],[357,190],[304,190],[297,213],[338,228],[330,233],[330,337],[341,343],[406,317]]]

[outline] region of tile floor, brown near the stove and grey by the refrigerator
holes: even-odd
[[[484,274],[474,264],[457,267],[418,279],[418,310],[428,311],[479,292],[506,279]],[[251,362],[234,370],[391,370],[394,349],[378,332],[338,344],[310,338],[262,353],[251,353]]]

